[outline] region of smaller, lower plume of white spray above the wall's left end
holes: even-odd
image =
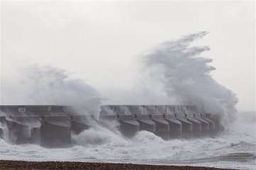
[[[99,116],[100,94],[63,69],[31,64],[14,77],[3,79],[1,103],[72,106],[80,114]]]

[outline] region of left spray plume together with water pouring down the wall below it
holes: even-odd
[[[18,84],[13,86],[12,90],[21,89],[19,90],[21,93],[18,93],[19,96],[16,98],[15,91],[4,91],[6,97],[3,98],[3,101],[11,96],[14,98],[14,103],[68,106],[68,113],[85,115],[82,121],[85,121],[86,125],[90,125],[90,129],[78,136],[73,135],[75,145],[90,145],[92,143],[97,145],[114,137],[114,139],[122,138],[116,129],[117,121],[111,124],[99,123],[100,94],[81,79],[74,79],[63,69],[39,67],[37,64],[19,69],[17,74],[19,74]],[[8,85],[4,84],[4,86]],[[28,125],[30,124],[28,123]],[[33,128],[35,127],[38,125],[33,126]]]

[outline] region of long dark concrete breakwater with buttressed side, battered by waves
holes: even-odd
[[[93,122],[133,137],[139,130],[154,132],[164,140],[216,135],[223,130],[220,116],[199,113],[195,106],[106,105],[100,120],[73,113],[68,106],[0,106],[0,137],[14,144],[70,147],[74,135]]]

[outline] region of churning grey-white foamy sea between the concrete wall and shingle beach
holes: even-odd
[[[216,137],[164,141],[142,131],[131,139],[105,128],[73,135],[74,146],[47,149],[11,145],[0,140],[0,159],[26,161],[122,162],[186,164],[235,169],[256,168],[255,113],[239,113],[228,130]]]

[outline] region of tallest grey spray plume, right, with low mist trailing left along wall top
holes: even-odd
[[[106,104],[195,105],[198,113],[213,113],[221,117],[225,127],[233,120],[238,98],[233,91],[215,81],[210,66],[212,59],[203,57],[210,47],[194,47],[206,31],[170,40],[143,55],[139,78],[131,90],[114,89],[107,94]]]

